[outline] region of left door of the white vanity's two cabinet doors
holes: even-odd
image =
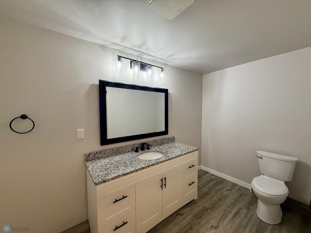
[[[162,174],[157,174],[136,185],[137,232],[162,217],[161,179]]]

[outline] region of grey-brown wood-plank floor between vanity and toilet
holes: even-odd
[[[238,184],[199,170],[198,199],[148,233],[311,233],[311,217],[282,206],[282,222],[269,225],[256,215],[257,198]]]

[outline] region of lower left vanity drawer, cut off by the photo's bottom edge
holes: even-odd
[[[136,233],[136,213],[121,217],[121,219],[111,223],[98,233]]]

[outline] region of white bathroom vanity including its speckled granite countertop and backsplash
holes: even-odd
[[[198,149],[174,137],[86,153],[88,221],[91,233],[146,233],[197,199]],[[140,154],[160,152],[143,160]]]

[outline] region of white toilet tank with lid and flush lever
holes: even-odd
[[[281,181],[292,181],[297,158],[257,150],[261,174]]]

